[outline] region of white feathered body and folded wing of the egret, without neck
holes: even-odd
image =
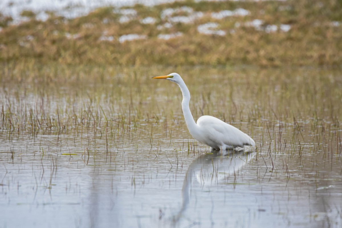
[[[212,116],[201,116],[197,125],[203,134],[199,140],[215,149],[220,147],[242,147],[244,145],[255,146],[254,140],[234,126]]]

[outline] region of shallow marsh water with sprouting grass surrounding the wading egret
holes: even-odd
[[[219,117],[258,149],[197,144],[179,88],[144,71],[6,82],[0,227],[341,227],[341,72],[178,71],[195,119]]]

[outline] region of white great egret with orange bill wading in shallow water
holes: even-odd
[[[233,149],[244,146],[255,146],[254,140],[234,126],[212,116],[201,116],[197,124],[189,108],[190,92],[183,79],[177,73],[167,76],[153,77],[155,79],[166,79],[175,82],[181,88],[183,94],[182,110],[186,126],[190,134],[200,143],[210,146],[212,149]]]

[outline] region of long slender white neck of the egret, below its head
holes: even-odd
[[[190,92],[188,88],[186,87],[184,81],[182,80],[180,83],[177,83],[179,87],[181,88],[182,94],[183,94],[183,100],[182,100],[182,110],[183,115],[185,119],[186,126],[188,127],[188,130],[190,134],[195,138],[197,131],[197,124],[191,114],[189,102],[190,102]]]

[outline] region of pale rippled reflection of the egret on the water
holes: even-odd
[[[247,154],[246,154],[247,153]],[[174,222],[177,223],[179,219],[182,217],[184,211],[187,209],[187,206],[190,201],[190,193],[193,185],[193,181],[196,178],[196,171],[200,171],[202,174],[207,170],[209,173],[209,169],[212,169],[213,175],[215,169],[219,169],[220,166],[225,165],[228,169],[227,171],[233,171],[235,169],[240,168],[243,164],[246,163],[245,159],[242,159],[241,156],[247,156],[249,152],[235,152],[234,150],[225,150],[225,151],[217,151],[212,150],[210,153],[199,156],[195,161],[193,161],[185,174],[183,188],[182,188],[182,208],[180,212],[174,219]],[[214,162],[213,160],[220,159],[218,162]],[[237,162],[238,161],[238,162]],[[212,166],[209,166],[212,164]],[[207,167],[205,166],[207,165]],[[210,167],[210,168],[209,168]],[[215,180],[218,181],[217,179]],[[201,186],[205,183],[200,183]]]

